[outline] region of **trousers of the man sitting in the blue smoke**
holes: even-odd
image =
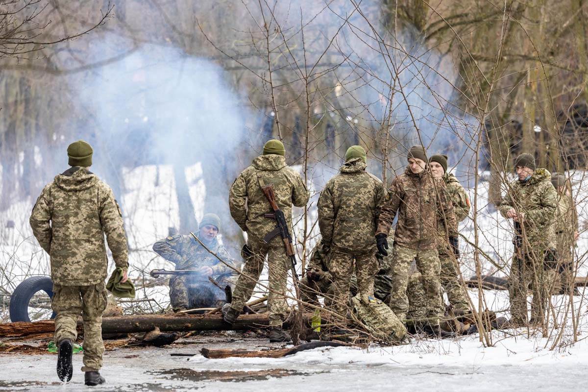
[[[201,276],[174,276],[169,280],[169,299],[173,310],[177,311],[182,308],[222,306],[226,295],[218,286],[203,280]]]

